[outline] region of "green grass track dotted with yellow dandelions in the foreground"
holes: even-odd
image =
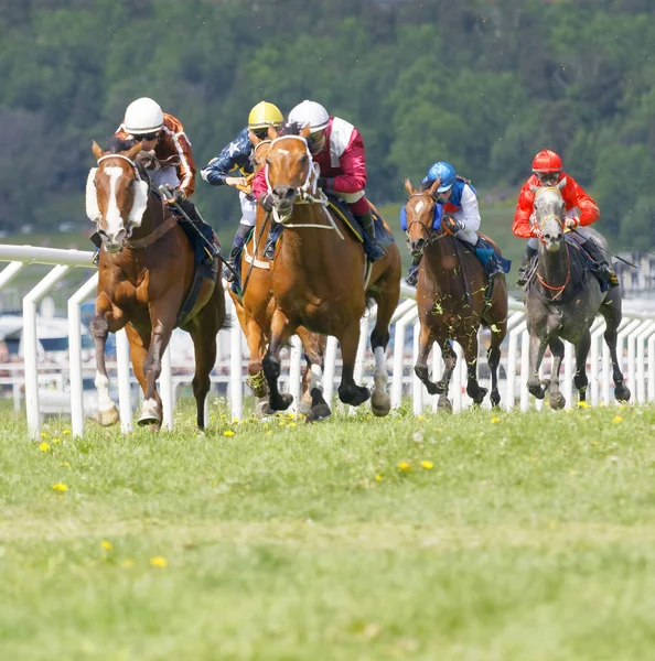
[[[648,658],[655,409],[214,410],[44,451],[2,416],[2,659]]]

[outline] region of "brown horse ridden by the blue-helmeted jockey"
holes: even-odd
[[[409,247],[412,254],[423,253],[416,290],[421,329],[414,371],[430,394],[439,394],[439,409],[450,410],[448,388],[457,364],[451,340],[455,340],[466,360],[466,394],[476,404],[482,403],[486,388],[477,382],[477,329],[481,324],[487,326],[492,330],[487,350],[492,372],[491,402],[497,407],[501,401],[497,380],[501,344],[507,332],[505,277],[495,277],[491,301],[485,302],[486,274],[480,260],[463,245],[458,246],[457,239],[432,228],[439,185],[437,180],[426,189],[418,191],[405,180],[409,195],[406,205]],[[428,371],[433,343],[441,347],[445,365],[438,383],[430,380]]]

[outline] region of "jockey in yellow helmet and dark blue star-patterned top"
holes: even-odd
[[[258,141],[267,140],[268,127],[278,128],[282,121],[282,113],[277,106],[268,101],[260,101],[250,110],[248,126],[201,171],[201,176],[213,186],[228,185],[240,188],[241,219],[229,252],[229,263],[233,268],[246,243],[248,234],[255,227],[255,197],[251,193],[246,193],[243,189],[248,187],[249,184],[246,177],[253,174],[254,170],[253,154],[255,147],[250,138],[254,137]],[[233,172],[234,175],[230,175]],[[235,274],[226,267],[223,277],[232,282]]]

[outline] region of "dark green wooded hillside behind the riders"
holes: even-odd
[[[314,98],[362,130],[378,203],[439,159],[514,197],[550,147],[601,231],[652,243],[654,19],[646,0],[6,0],[0,228],[86,226],[90,140],[138,96],[183,121],[198,166],[261,98]],[[196,199],[236,223],[234,191],[198,178]]]

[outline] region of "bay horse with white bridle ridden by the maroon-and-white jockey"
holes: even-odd
[[[340,340],[341,401],[357,407],[368,400],[368,389],[355,383],[354,366],[359,321],[367,299],[372,299],[377,303],[377,319],[371,335],[375,355],[372,410],[376,415],[386,415],[390,400],[385,390],[388,378],[385,349],[400,296],[398,247],[391,243],[386,256],[368,270],[359,241],[316,189],[319,169],[308,147],[309,127],[299,130],[298,126],[289,124],[282,137],[271,129],[269,137],[273,140],[266,159],[266,176],[273,199],[271,218],[283,228],[271,272],[275,311],[264,358],[269,405],[283,411],[292,401],[290,394],[278,390],[280,349],[301,325]],[[322,394],[323,356],[308,347],[305,353],[311,362],[309,419],[314,420],[330,411]]]

